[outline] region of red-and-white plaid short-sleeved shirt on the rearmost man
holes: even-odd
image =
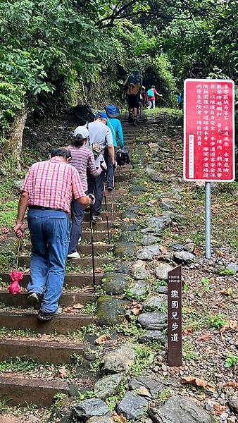
[[[63,209],[67,213],[73,196],[77,199],[85,195],[77,170],[56,157],[32,164],[22,190],[28,194],[29,206]]]

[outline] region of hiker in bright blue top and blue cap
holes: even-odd
[[[118,141],[120,148],[124,148],[124,137],[123,137],[123,127],[120,123],[119,119],[117,119],[118,116],[120,116],[120,110],[117,106],[114,106],[113,104],[110,104],[105,107],[106,110],[106,116],[108,118],[107,125],[108,128],[111,129],[111,132],[113,134],[113,145],[114,145],[114,151],[115,151],[115,157],[116,152],[118,149]],[[104,154],[106,164],[108,166],[108,171],[106,175],[106,182],[108,185],[108,191],[113,190],[113,176],[115,172],[115,168],[113,168],[113,164],[111,163],[110,157],[107,157],[107,152]]]

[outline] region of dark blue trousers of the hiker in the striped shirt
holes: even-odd
[[[72,226],[70,231],[70,245],[68,254],[77,251],[77,243],[82,235],[82,222],[84,220],[85,207],[78,204],[76,200],[72,202]]]

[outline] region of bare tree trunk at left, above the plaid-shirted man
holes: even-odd
[[[4,148],[4,153],[12,153],[13,157],[17,160],[18,171],[20,172],[20,154],[22,151],[23,145],[23,130],[25,128],[25,121],[27,120],[27,109],[23,107],[20,111],[18,111],[15,115],[15,119],[13,124],[11,125],[11,129],[9,130],[9,139]]]

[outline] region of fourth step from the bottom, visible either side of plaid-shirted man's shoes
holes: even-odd
[[[65,293],[63,292],[59,301],[63,307],[70,307],[74,304],[86,305],[92,298],[92,293]],[[27,292],[11,295],[8,290],[0,290],[0,302],[7,307],[22,307],[28,308],[27,305]]]

